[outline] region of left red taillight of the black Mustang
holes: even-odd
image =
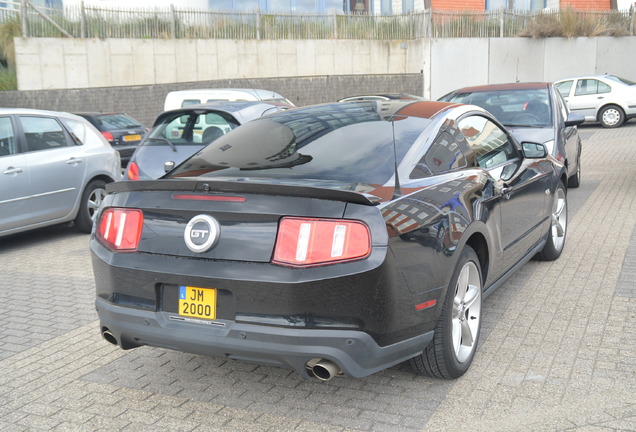
[[[118,252],[132,252],[139,245],[143,224],[141,210],[109,208],[97,222],[97,239]]]

